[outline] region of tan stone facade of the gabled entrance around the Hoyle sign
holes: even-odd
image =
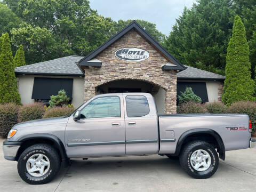
[[[124,61],[115,56],[115,51],[124,47],[136,47],[149,52],[148,59],[138,62]],[[97,57],[100,68],[85,68],[84,100],[93,97],[97,87],[121,79],[145,81],[165,90],[165,113],[176,113],[177,71],[162,70],[167,60],[140,34],[130,30]]]

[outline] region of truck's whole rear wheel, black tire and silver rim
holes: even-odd
[[[219,156],[212,145],[205,141],[192,141],[180,154],[181,167],[193,178],[210,178],[218,169]]]

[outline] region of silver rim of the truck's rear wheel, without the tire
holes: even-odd
[[[210,154],[203,150],[198,149],[190,157],[190,164],[196,171],[206,171],[211,165]]]

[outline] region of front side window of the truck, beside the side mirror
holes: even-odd
[[[119,97],[94,99],[81,110],[81,118],[120,117]]]

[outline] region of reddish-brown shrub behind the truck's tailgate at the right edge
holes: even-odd
[[[252,131],[256,132],[256,102],[237,101],[228,108],[229,113],[248,114],[252,121]]]

